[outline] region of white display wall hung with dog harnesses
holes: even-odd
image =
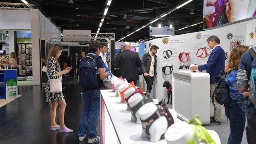
[[[254,20],[256,21],[256,19]],[[248,28],[250,27],[250,28]],[[200,48],[208,48],[206,49],[209,53],[211,49],[208,46],[208,43],[206,42],[207,38],[211,35],[216,35],[220,39],[220,46],[223,48],[225,52],[228,52],[228,56],[230,54],[230,51],[233,47],[236,45],[249,45],[252,46],[253,44],[256,44],[256,38],[255,36],[250,39],[249,33],[255,32],[256,22],[254,23],[244,23],[236,26],[229,26],[225,28],[218,28],[213,30],[207,30],[207,31],[201,31],[197,33],[189,33],[184,35],[177,35],[177,36],[171,36],[171,37],[165,37],[165,38],[158,38],[153,39],[151,41],[145,42],[146,44],[146,50],[145,52],[148,52],[150,50],[149,44],[155,44],[159,47],[158,52],[156,53],[157,56],[157,74],[158,77],[154,79],[153,89],[151,92],[151,97],[156,98],[158,100],[161,100],[162,98],[167,100],[167,91],[166,88],[163,87],[164,81],[169,81],[171,83],[171,74],[165,75],[162,72],[162,67],[164,67],[166,64],[168,66],[173,65],[173,70],[179,69],[181,65],[191,65],[191,64],[198,64],[203,65],[207,63],[207,60],[209,56],[205,58],[198,57],[201,55],[201,51],[199,51],[197,55],[197,51]],[[171,50],[172,55],[170,58],[164,58],[163,53],[164,51]],[[178,59],[178,56],[182,52],[190,52],[190,59],[186,63],[181,62]],[[210,54],[210,53],[209,53]],[[164,54],[165,56],[165,54]],[[204,57],[205,54],[202,55]],[[182,60],[186,61],[187,58],[185,58],[185,54],[183,54]],[[228,63],[228,59],[225,61],[225,65]],[[166,74],[168,74],[168,71],[166,71]],[[141,83],[140,83],[141,84]],[[145,90],[147,86],[145,85]],[[210,93],[209,93],[210,94]]]

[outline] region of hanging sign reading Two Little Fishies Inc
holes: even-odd
[[[63,41],[91,41],[91,30],[63,30]]]

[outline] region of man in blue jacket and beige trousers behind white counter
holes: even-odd
[[[212,49],[208,61],[204,65],[197,65],[190,68],[191,71],[195,70],[206,70],[210,74],[210,90],[211,90],[211,100],[214,100],[214,115],[211,117],[210,124],[221,125],[221,105],[216,102],[213,97],[213,91],[216,86],[215,77],[220,74],[220,71],[225,70],[225,52],[220,47],[220,39],[215,35],[212,35],[207,40],[208,46]]]

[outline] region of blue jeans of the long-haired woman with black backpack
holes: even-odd
[[[225,115],[228,116],[228,108],[226,107]],[[241,144],[245,126],[245,113],[237,103],[229,108],[229,121],[230,135],[228,137],[228,144]]]

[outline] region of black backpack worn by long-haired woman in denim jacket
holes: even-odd
[[[213,96],[215,97],[216,102],[220,105],[224,105],[224,107],[229,108],[229,103],[231,101],[230,97],[230,89],[226,82],[226,76],[224,70],[220,71],[220,74],[215,77],[216,86],[215,90],[213,91]],[[212,101],[214,105],[214,100]],[[214,108],[216,109],[215,105]],[[228,109],[229,111],[229,109]]]

